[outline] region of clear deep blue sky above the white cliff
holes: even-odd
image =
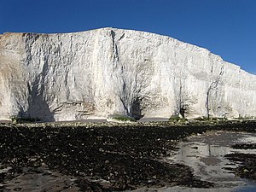
[[[0,0],[0,33],[105,26],[177,38],[256,74],[256,0]]]

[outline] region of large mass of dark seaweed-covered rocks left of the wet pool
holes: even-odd
[[[43,169],[59,177],[72,176],[74,183],[63,185],[61,181],[63,190],[75,186],[82,191],[165,185],[209,188],[212,183],[195,178],[188,166],[171,165],[161,159],[176,149],[177,138],[193,132],[195,129],[189,127],[2,126],[1,166],[10,168],[1,174],[2,188],[26,175],[24,168],[33,170],[29,174]]]

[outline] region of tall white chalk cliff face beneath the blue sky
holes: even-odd
[[[256,116],[256,76],[207,49],[102,28],[0,36],[0,119]]]

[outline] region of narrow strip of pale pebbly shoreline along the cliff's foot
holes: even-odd
[[[142,128],[142,127],[161,127],[161,128],[172,128],[172,127],[200,127],[206,131],[247,131],[256,132],[256,119],[232,119],[232,120],[177,120],[177,121],[146,121],[146,122],[110,122],[110,121],[62,121],[62,122],[35,122],[35,123],[12,123],[12,122],[1,122],[1,127],[15,127],[15,128],[37,128],[37,127],[52,127],[52,128]]]

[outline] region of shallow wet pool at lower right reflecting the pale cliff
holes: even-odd
[[[218,131],[189,137],[187,142],[179,143],[178,147],[180,149],[169,160],[192,167],[195,170],[195,176],[216,183],[217,188],[222,189],[221,191],[225,191],[224,189],[234,191],[244,185],[248,189],[253,185],[256,189],[256,183],[249,183],[246,179],[236,177],[232,172],[225,169],[238,166],[225,159],[225,154],[236,151],[239,153],[256,153],[256,150],[230,148],[235,143],[256,143],[256,134]],[[244,189],[241,191],[251,191]],[[186,189],[182,191],[194,190]],[[195,191],[200,190],[196,189]],[[204,189],[204,191],[218,190]]]

